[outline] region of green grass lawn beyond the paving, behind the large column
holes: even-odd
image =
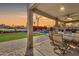
[[[33,34],[33,36],[39,36],[39,35],[43,35],[43,34],[38,34],[38,33]],[[0,42],[17,40],[17,39],[22,39],[22,38],[26,38],[26,37],[27,37],[27,33],[25,33],[25,32],[4,33],[4,34],[0,34]]]

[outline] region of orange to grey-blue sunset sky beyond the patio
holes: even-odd
[[[36,22],[36,21],[35,21]],[[27,4],[0,4],[0,24],[26,25]],[[34,24],[36,25],[36,24]],[[41,19],[39,26],[53,26],[54,21]]]

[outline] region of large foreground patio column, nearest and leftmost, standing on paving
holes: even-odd
[[[27,4],[27,48],[25,56],[33,56],[33,12]]]

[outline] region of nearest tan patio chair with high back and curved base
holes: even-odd
[[[64,55],[67,52],[67,44],[62,34],[53,34],[53,46],[54,52],[58,55]]]

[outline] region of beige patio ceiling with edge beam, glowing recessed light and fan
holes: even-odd
[[[61,22],[79,22],[79,3],[40,3],[33,11]]]

